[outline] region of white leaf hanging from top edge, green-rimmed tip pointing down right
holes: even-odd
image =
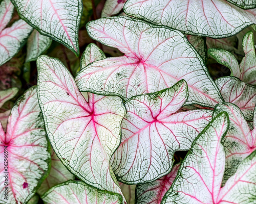
[[[11,0],[19,16],[41,35],[48,36],[70,48],[79,56],[78,28],[82,1]]]

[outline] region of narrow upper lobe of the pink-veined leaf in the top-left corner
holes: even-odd
[[[4,0],[0,6],[0,33],[4,30],[12,18],[14,6],[10,0]]]

